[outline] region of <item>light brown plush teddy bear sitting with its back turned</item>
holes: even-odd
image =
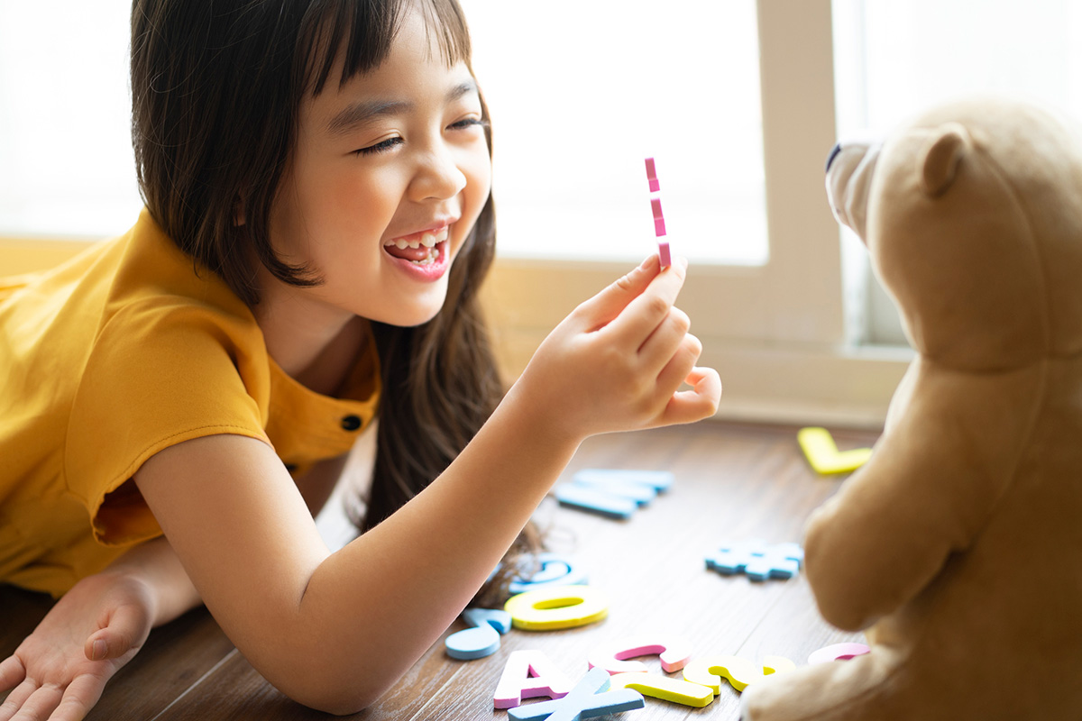
[[[836,218],[915,357],[808,519],[819,612],[871,652],[767,677],[743,721],[1082,719],[1082,134],[1014,98],[840,144]]]

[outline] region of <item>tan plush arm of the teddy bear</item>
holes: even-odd
[[[1042,378],[1033,366],[972,374],[914,361],[872,458],[807,524],[806,574],[828,622],[867,628],[969,546],[1014,477]]]

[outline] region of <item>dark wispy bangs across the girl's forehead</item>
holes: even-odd
[[[325,0],[309,5],[298,37],[302,86],[321,93],[339,53],[345,57],[339,86],[379,67],[411,10],[421,13],[425,35],[430,41],[435,37],[445,64],[470,65],[470,31],[454,0]]]

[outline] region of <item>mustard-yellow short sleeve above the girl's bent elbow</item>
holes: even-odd
[[[268,402],[254,320],[183,298],[118,311],[87,359],[65,442],[67,488],[85,504],[95,537],[127,545],[160,535],[128,482],[135,471],[194,438],[232,433],[269,443]]]

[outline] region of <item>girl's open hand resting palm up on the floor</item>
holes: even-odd
[[[15,653],[0,663],[0,721],[79,721],[106,682],[146,641],[150,590],[126,574],[88,576],[71,587]]]

